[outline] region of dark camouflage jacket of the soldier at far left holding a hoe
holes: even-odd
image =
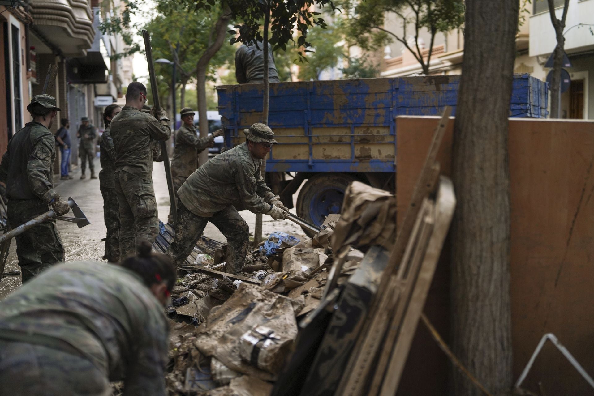
[[[39,198],[49,204],[53,190],[56,141],[39,122],[29,122],[10,141],[0,163],[0,182],[6,183],[8,199]]]

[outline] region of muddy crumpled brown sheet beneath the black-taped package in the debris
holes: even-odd
[[[287,348],[279,353],[287,354],[288,346],[297,337],[296,313],[303,307],[303,302],[242,283],[223,305],[210,311],[206,326],[203,325],[197,334],[195,346],[231,370],[273,381],[276,373],[258,369],[242,359],[241,338],[253,328],[266,324],[287,344]],[[280,366],[275,369],[280,370]]]

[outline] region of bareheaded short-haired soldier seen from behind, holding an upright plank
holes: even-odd
[[[113,180],[119,203],[121,257],[132,254],[141,240],[152,243],[159,233],[152,148],[155,141],[171,137],[171,127],[165,110],[160,109],[157,118],[142,112],[145,102],[146,87],[137,81],[130,83],[126,105],[109,128],[115,147]]]

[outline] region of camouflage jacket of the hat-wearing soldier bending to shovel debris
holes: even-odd
[[[210,159],[179,188],[179,199],[197,216],[210,217],[227,205],[241,204],[253,213],[267,213],[274,197],[260,174],[246,142]]]

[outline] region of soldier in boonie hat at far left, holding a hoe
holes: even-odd
[[[8,141],[0,163],[0,182],[6,184],[8,223],[12,228],[49,210],[62,216],[68,203],[53,189],[56,142],[49,128],[56,113],[56,99],[46,94],[33,97],[27,110],[33,121],[26,123]],[[55,220],[45,221],[15,237],[23,283],[53,264],[64,261],[64,247]]]

